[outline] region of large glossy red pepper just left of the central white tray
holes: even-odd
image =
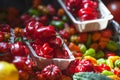
[[[14,44],[11,44],[11,53],[13,56],[28,56],[29,50],[25,45],[23,45],[22,42],[16,42]]]

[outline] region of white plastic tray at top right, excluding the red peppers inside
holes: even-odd
[[[113,19],[113,15],[110,13],[110,11],[106,8],[106,6],[103,4],[101,0],[99,0],[99,10],[100,10],[101,17],[99,19],[87,20],[87,21],[77,20],[67,10],[64,0],[58,0],[58,2],[62,6],[62,8],[65,10],[67,15],[70,17],[70,19],[73,21],[76,29],[79,32],[90,32],[90,31],[103,30],[107,27],[108,21]]]

